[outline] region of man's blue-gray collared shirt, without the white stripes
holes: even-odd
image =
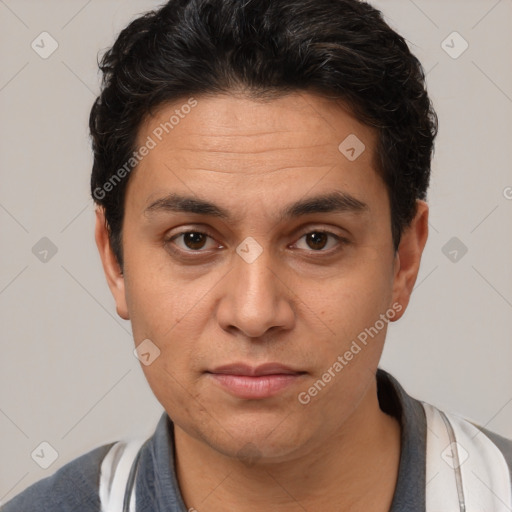
[[[389,373],[377,371],[381,409],[401,424],[398,480],[390,512],[425,510],[426,418],[420,401],[409,396]],[[481,431],[505,455],[512,474],[512,441]],[[97,448],[35,483],[2,512],[98,512],[100,466],[112,445]],[[174,425],[163,414],[155,433],[143,446],[137,475],[137,512],[187,512],[175,472]]]

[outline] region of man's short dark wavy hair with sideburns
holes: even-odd
[[[122,30],[99,67],[101,92],[89,119],[91,194],[104,209],[121,271],[129,176],[120,179],[120,171],[129,161],[135,166],[143,120],[191,95],[243,91],[268,101],[309,91],[342,100],[376,129],[374,161],[389,195],[395,250],[416,200],[426,198],[437,116],[425,74],[404,38],[366,2],[170,0]]]

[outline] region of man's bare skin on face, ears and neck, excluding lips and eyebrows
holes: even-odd
[[[428,207],[417,202],[395,252],[376,133],[341,103],[306,92],[266,103],[234,93],[197,101],[130,176],[123,272],[101,209],[96,223],[118,314],[131,320],[136,345],[150,339],[160,350],[143,370],[175,425],[184,501],[200,512],[387,511],[400,457],[400,425],[377,400],[387,323],[307,405],[297,397],[393,304],[401,306],[393,321],[404,313]],[[146,119],[139,143],[184,103]],[[366,147],[354,161],[338,150],[350,134]],[[279,217],[290,203],[334,190],[367,207]],[[172,192],[232,217],[145,213]],[[346,242],[320,238],[319,247],[306,236],[318,230]],[[183,232],[208,237],[168,240]],[[246,237],[262,249],[252,263],[236,252]],[[233,362],[305,373],[275,396],[242,399],[206,373]]]

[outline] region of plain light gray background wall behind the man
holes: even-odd
[[[94,243],[87,129],[98,52],[158,4],[0,0],[0,502],[96,446],[149,435],[162,411]],[[373,4],[422,61],[440,119],[430,237],[381,366],[512,437],[512,1]],[[44,31],[58,44],[46,59],[31,47],[51,49]],[[43,237],[57,250],[47,261]],[[58,453],[48,469],[31,457],[51,452],[41,442]]]

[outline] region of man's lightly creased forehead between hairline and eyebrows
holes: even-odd
[[[228,202],[236,196],[244,207],[262,193],[272,202],[312,188],[352,196],[384,191],[374,165],[376,132],[339,102],[305,92],[264,102],[233,95],[194,102],[165,104],[140,126],[138,147],[151,139],[153,148],[127,194],[141,211],[178,189]]]

